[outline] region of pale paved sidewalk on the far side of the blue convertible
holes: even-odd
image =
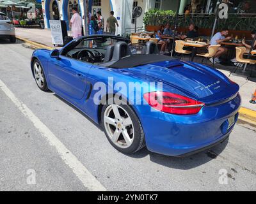
[[[33,47],[35,48],[58,48],[52,45],[51,31],[47,29],[28,29],[18,27],[16,28],[16,36],[20,40],[25,40],[26,43],[32,43]],[[38,43],[38,45],[36,45],[36,43]],[[43,45],[43,47],[41,45]],[[211,66],[210,63],[209,65]],[[233,69],[231,67],[225,66],[225,70],[221,65],[216,65],[216,68],[224,73],[227,77],[230,73],[230,70]],[[256,89],[256,83],[246,80],[246,77],[243,75],[231,75],[229,78],[230,80],[239,84],[242,106],[244,108],[248,108],[249,110],[253,110],[252,114],[255,115],[254,117],[256,118],[256,105],[253,105],[249,102],[252,98],[253,92]]]

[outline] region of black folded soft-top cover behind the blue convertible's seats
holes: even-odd
[[[138,54],[138,55],[131,55],[129,57],[124,57],[118,61],[114,61],[113,63],[103,63],[100,66],[105,66],[108,68],[134,68],[136,66],[142,66],[145,64],[152,64],[155,62],[162,62],[162,61],[170,61],[172,58],[166,55],[159,55],[159,54]]]

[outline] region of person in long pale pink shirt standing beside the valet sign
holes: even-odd
[[[82,36],[82,18],[77,13],[77,8],[72,8],[72,18],[70,20],[69,26],[72,27],[72,37],[77,38]]]

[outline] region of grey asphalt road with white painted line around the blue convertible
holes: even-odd
[[[256,190],[253,127],[237,124],[228,142],[183,159],[147,149],[125,156],[83,113],[38,89],[32,52],[0,40],[1,191]]]

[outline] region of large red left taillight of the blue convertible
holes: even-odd
[[[170,92],[148,92],[143,97],[152,108],[179,115],[196,114],[205,105],[200,101]]]

